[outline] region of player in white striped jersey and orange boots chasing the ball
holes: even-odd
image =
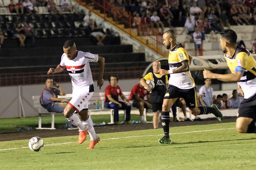
[[[88,101],[94,92],[89,62],[98,62],[100,65],[97,86],[101,88],[104,83],[105,59],[98,54],[78,51],[72,40],[67,40],[64,43],[63,51],[60,64],[55,69],[50,68],[48,74],[59,73],[65,68],[67,69],[71,77],[73,92],[72,99],[64,109],[64,116],[79,128],[79,144],[86,140],[87,132],[89,133],[91,142],[87,149],[92,149],[100,141],[100,137],[94,131],[92,119],[88,115]],[[74,113],[78,113],[82,121]]]

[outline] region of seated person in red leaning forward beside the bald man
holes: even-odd
[[[147,97],[147,100],[144,100],[144,97]],[[132,107],[136,107],[140,111],[140,123],[147,123],[144,119],[144,108],[151,109],[152,106],[149,103],[150,101],[150,93],[144,87],[138,83],[132,87],[132,91],[130,93],[130,97],[128,99],[130,105]]]

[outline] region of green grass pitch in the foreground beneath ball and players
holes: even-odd
[[[1,170],[10,169],[255,169],[255,134],[236,132],[235,123],[170,128],[171,145],[160,145],[163,130],[99,134],[94,149],[89,136],[43,138],[33,152],[28,140],[0,142]]]

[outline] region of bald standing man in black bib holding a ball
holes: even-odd
[[[140,84],[147,88],[150,93],[150,103],[153,110],[153,127],[158,128],[159,125],[159,113],[162,111],[162,104],[164,99],[164,94],[166,92],[166,87],[168,85],[168,76],[161,76],[158,71],[161,68],[161,63],[159,61],[154,61],[152,63],[153,71],[146,74],[142,79],[140,79]],[[146,83],[147,80],[152,80],[155,83],[154,89]]]

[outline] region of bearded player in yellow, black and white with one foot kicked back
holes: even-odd
[[[170,144],[169,123],[170,123],[170,108],[182,97],[190,113],[193,115],[203,115],[213,113],[219,121],[222,121],[223,116],[216,105],[211,107],[198,107],[196,99],[196,85],[189,70],[189,65],[192,57],[188,55],[182,44],[176,43],[176,34],[173,30],[168,30],[163,35],[164,46],[170,49],[168,63],[169,70],[160,69],[160,75],[170,74],[169,87],[164,96],[162,106],[162,127],[164,129],[164,137],[159,139],[160,144]]]

